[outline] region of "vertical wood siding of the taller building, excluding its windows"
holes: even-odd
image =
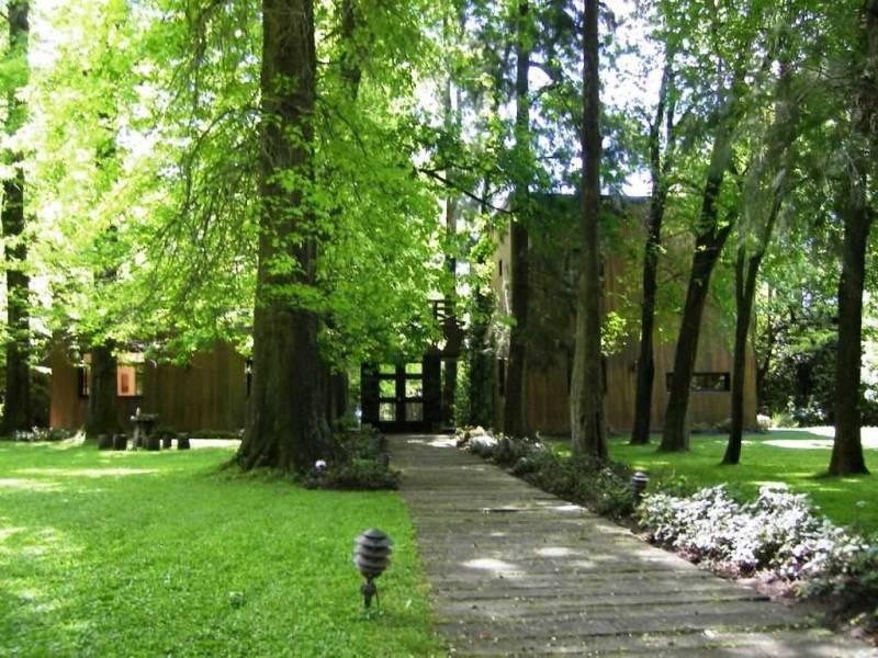
[[[550,230],[565,230],[559,214],[565,212],[564,201],[550,202],[552,217],[545,223]],[[624,249],[618,249],[619,241],[638,236],[642,232],[639,222],[640,213],[645,211],[645,204],[633,203],[628,208],[628,215],[615,214],[616,245],[610,238],[610,245],[604,248],[604,311],[619,310],[622,304],[637,302],[642,263],[637,257],[622,256]],[[635,237],[633,242],[639,240]],[[530,318],[533,340],[529,343],[529,356],[526,371],[526,399],[528,423],[532,431],[548,434],[570,433],[570,370],[573,361],[573,330],[575,308],[571,300],[572,291],[564,292],[570,266],[570,254],[575,249],[575,240],[559,240],[556,236],[547,237],[531,230],[531,300]],[[684,268],[690,258],[690,247],[680,242],[669,257],[677,268]],[[509,240],[508,231],[498,236],[497,249],[494,254],[493,288],[497,295],[498,311],[508,315],[509,276]],[[499,263],[503,261],[500,273]],[[667,276],[666,279],[671,279]],[[686,277],[680,280],[685,285]],[[633,283],[633,286],[632,286]],[[683,295],[685,291],[680,291]],[[624,302],[627,300],[627,302]],[[652,392],[652,419],[651,426],[661,430],[664,426],[667,406],[666,377],[674,364],[674,342],[668,342],[667,337],[676,337],[678,318],[665,322],[665,333],[661,327],[654,334],[655,350],[655,381]],[[634,327],[637,329],[637,327]],[[696,372],[730,373],[732,370],[732,339],[734,326],[729,318],[723,318],[716,305],[708,302],[702,319],[702,331],[699,340],[698,355],[696,358]],[[539,337],[539,338],[538,338]],[[503,337],[498,337],[497,351],[499,356],[505,356],[506,345]],[[628,432],[633,426],[634,392],[637,386],[637,358],[639,334],[633,331],[627,337],[622,348],[607,359],[606,363],[606,392],[604,410],[607,424],[611,430]],[[531,354],[533,358],[531,359]],[[746,372],[744,382],[744,424],[756,424],[756,364],[752,347],[747,345]],[[598,385],[603,385],[598,383]],[[495,392],[495,408],[497,409],[497,427],[502,420],[503,396]],[[693,390],[689,398],[688,423],[716,424],[731,417],[730,392],[697,392]]]

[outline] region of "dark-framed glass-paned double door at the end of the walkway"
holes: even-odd
[[[429,427],[423,362],[363,365],[363,422],[381,432],[423,432]]]

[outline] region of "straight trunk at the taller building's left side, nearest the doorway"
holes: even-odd
[[[518,4],[518,35],[516,41],[516,115],[515,134],[516,150],[522,157],[519,167],[524,167],[525,154],[530,150],[530,98],[528,71],[530,69],[530,46],[527,35],[528,3]],[[513,325],[509,332],[509,363],[506,367],[506,397],[503,408],[503,430],[513,436],[528,434],[526,412],[525,372],[527,367],[527,325],[530,298],[530,273],[528,265],[528,229],[527,197],[528,180],[522,171],[518,172],[514,193],[515,220],[510,229],[510,251],[513,262],[509,271],[513,279]]]

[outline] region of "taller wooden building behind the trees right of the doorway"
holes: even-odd
[[[528,250],[530,266],[530,309],[527,328],[528,353],[525,374],[526,418],[531,431],[547,434],[570,433],[570,384],[573,370],[573,332],[575,320],[576,262],[578,246],[576,223],[578,200],[573,196],[549,196],[540,202],[538,216],[531,224]],[[605,200],[601,217],[601,275],[604,314],[618,313],[626,318],[626,332],[604,362],[604,411],[607,424],[617,432],[633,426],[637,359],[639,351],[639,311],[637,308],[642,272],[643,225],[648,200]],[[691,247],[678,241],[663,257],[676,266],[677,276],[664,273],[663,279],[676,286],[680,299],[688,279],[686,269]],[[494,256],[493,288],[498,313],[510,314],[511,254],[509,235],[498,238]],[[667,266],[667,262],[665,263]],[[679,276],[679,274],[683,276]],[[635,319],[634,319],[635,317]],[[633,320],[633,321],[632,321]],[[664,325],[664,326],[662,326]],[[674,340],[679,316],[658,322],[654,336],[655,378],[652,390],[654,430],[664,424],[669,376],[674,364]],[[724,317],[718,305],[708,303],[695,366],[689,399],[688,424],[717,424],[731,417],[731,371],[734,318]],[[672,340],[668,340],[672,339]],[[505,355],[508,337],[497,336],[497,389],[495,408],[497,427],[502,426],[505,390]],[[744,384],[744,424],[756,424],[755,359],[746,359]]]

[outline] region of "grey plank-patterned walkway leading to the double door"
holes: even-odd
[[[437,628],[461,656],[878,656],[457,450],[391,438]]]

